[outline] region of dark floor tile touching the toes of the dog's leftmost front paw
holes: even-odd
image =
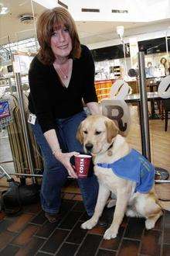
[[[87,234],[87,230],[83,230],[80,228],[81,222],[76,223],[76,226],[70,232],[69,237],[67,237],[66,241],[70,243],[80,244]]]

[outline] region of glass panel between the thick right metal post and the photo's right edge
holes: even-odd
[[[170,110],[170,99],[158,95],[158,87],[168,72],[168,55],[165,42],[162,53],[145,55],[146,89],[148,93],[148,118],[150,128],[151,162],[157,168],[170,170],[170,133],[169,126],[165,131],[165,110]],[[166,104],[165,104],[166,103]],[[167,106],[166,106],[167,105]],[[169,115],[169,114],[168,114]],[[160,176],[161,178],[161,176]]]

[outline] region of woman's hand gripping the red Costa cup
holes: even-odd
[[[80,154],[78,152],[70,152],[70,153],[62,153],[61,151],[57,151],[54,155],[58,161],[60,161],[63,166],[68,171],[69,175],[72,178],[78,178],[76,172],[73,170],[72,164],[70,163],[70,158],[74,155]]]

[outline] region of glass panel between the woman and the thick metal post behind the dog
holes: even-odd
[[[119,114],[122,115],[119,110],[121,111],[121,109],[123,109],[123,117],[121,116],[123,120],[121,129],[124,130],[125,126],[129,126],[126,130],[128,133],[128,142],[131,144],[131,147],[141,151],[141,126],[138,100],[129,99],[127,103],[128,106],[124,106],[124,103],[122,102],[110,101],[110,99],[124,99],[125,95],[130,95],[131,98],[131,95],[136,95],[139,92],[137,75],[130,77],[127,74],[127,71],[131,69],[129,44],[125,44],[125,47],[123,47],[122,44],[117,47],[117,49],[121,49],[121,55],[119,58],[116,57],[114,53],[114,49],[116,49],[116,47],[105,47],[103,49],[92,51],[95,61],[95,87],[97,97],[101,103],[102,109],[104,109],[103,113],[114,120],[117,119]],[[125,50],[125,53],[123,52],[123,49]],[[110,57],[107,57],[107,55]],[[126,56],[125,59],[124,55]],[[105,99],[107,99],[107,101],[105,101]],[[109,110],[108,106],[105,108],[107,104],[110,104]],[[114,104],[116,106],[120,106],[121,109],[119,107],[114,109]],[[127,133],[125,135],[127,135]],[[137,137],[139,140],[136,139]]]

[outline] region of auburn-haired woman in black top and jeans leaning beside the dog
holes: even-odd
[[[32,130],[42,150],[45,170],[41,204],[50,222],[57,220],[60,192],[68,174],[77,178],[70,157],[83,150],[76,130],[86,118],[83,101],[99,113],[90,50],[80,45],[76,26],[63,8],[46,10],[37,24],[39,54],[29,69],[29,111],[36,115]],[[97,178],[78,178],[89,216],[97,200]]]

